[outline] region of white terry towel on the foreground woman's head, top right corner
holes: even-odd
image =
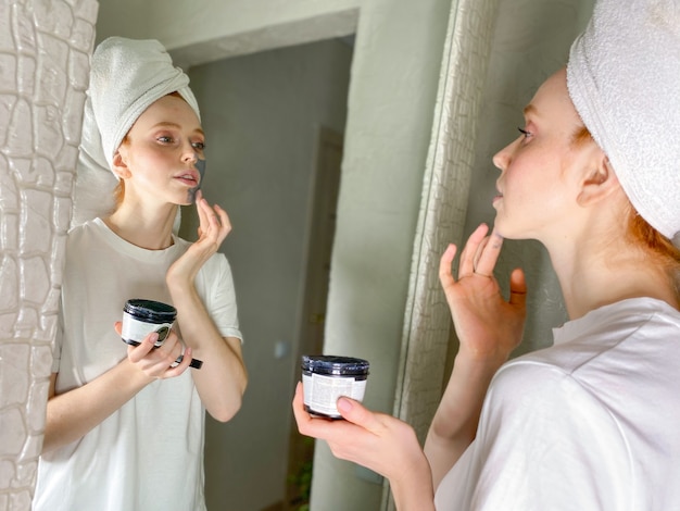
[[[638,213],[680,246],[680,0],[599,0],[567,85]]]

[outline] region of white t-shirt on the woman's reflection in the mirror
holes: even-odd
[[[143,298],[172,304],[165,273],[189,246],[174,237],[165,250],[146,250],[100,219],[70,232],[52,367],[59,373],[56,394],[85,385],[127,356],[127,345],[113,329],[125,302]],[[196,287],[221,334],[242,338],[224,254],[203,265]],[[34,510],[204,510],[205,409],[193,371],[153,382],[79,440],[43,454]]]

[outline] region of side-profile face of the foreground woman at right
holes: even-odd
[[[571,139],[582,122],[567,91],[566,71],[543,83],[525,109],[520,136],[493,157],[501,170],[493,199],[495,228],[506,238],[568,235],[585,154]]]

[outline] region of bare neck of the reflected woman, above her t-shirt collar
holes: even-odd
[[[173,245],[173,226],[177,205],[163,211],[126,208],[122,204],[103,222],[117,236],[126,241],[148,250],[163,250]]]

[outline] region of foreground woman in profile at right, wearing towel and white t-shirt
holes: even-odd
[[[459,338],[420,448],[407,424],[338,400],[299,429],[386,476],[400,510],[680,509],[680,4],[601,0],[568,64],[495,154],[494,226],[440,279]],[[503,239],[538,239],[569,321],[522,336],[521,270],[504,298]],[[313,496],[314,498],[314,496]]]

